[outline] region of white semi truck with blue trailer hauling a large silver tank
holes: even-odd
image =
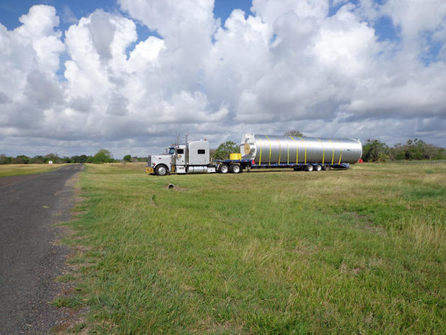
[[[246,134],[240,152],[211,161],[207,140],[172,144],[165,154],[149,154],[147,174],[240,174],[251,169],[292,168],[295,171],[349,169],[362,155],[360,140],[348,138]]]

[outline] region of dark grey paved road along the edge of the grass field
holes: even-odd
[[[81,165],[0,178],[0,335],[50,334],[62,311],[48,304],[68,249],[54,244],[67,221]],[[71,181],[71,182],[70,182]]]

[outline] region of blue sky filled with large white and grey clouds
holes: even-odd
[[[292,129],[446,147],[444,0],[3,0],[0,23],[0,154]]]

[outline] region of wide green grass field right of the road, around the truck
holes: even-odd
[[[445,163],[143,171],[81,175],[78,294],[55,304],[88,305],[89,331],[446,333]]]

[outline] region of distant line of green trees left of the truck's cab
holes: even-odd
[[[135,162],[135,161],[146,161],[146,157],[132,157],[130,154],[124,156],[121,159],[114,159],[113,154],[107,149],[100,149],[93,156],[86,154],[75,155],[72,157],[59,157],[57,154],[46,154],[45,156],[37,155],[35,157],[28,157],[24,154],[18,155],[16,157],[8,157],[5,154],[0,154],[0,164],[48,164],[52,161],[54,164],[63,163],[116,163],[120,161],[125,162]]]

